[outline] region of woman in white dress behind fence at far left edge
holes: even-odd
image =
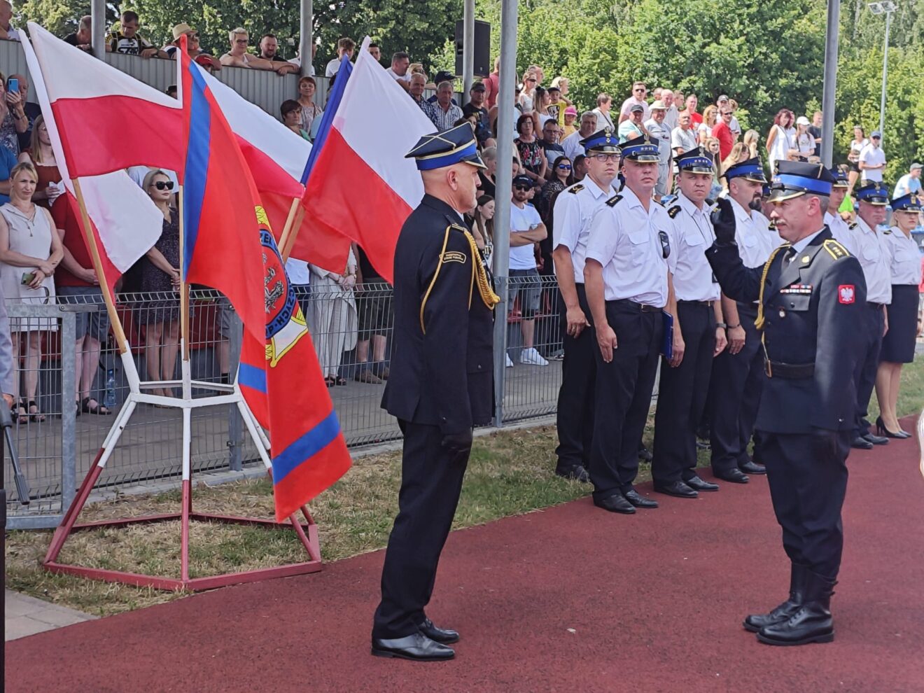
[[[7,299],[20,303],[55,303],[55,267],[64,257],[61,237],[55,231],[52,214],[32,202],[39,176],[24,162],[10,172],[9,201],[0,207],[0,282]],[[19,377],[14,380],[13,415],[19,423],[43,421],[35,402],[42,361],[42,333],[56,332],[53,318],[11,318],[13,358],[20,363],[20,334],[26,333],[26,392],[19,395]]]

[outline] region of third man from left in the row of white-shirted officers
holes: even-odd
[[[705,249],[715,240],[706,198],[712,187],[712,159],[699,147],[677,157],[680,175],[671,218],[668,267],[674,281],[674,346],[662,360],[658,408],[654,417],[651,477],[654,490],[696,498],[719,485],[696,473],[696,431],[706,407],[712,359],[725,348],[722,291]]]

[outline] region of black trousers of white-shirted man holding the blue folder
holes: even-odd
[[[597,381],[588,471],[598,499],[631,490],[638,474],[638,441],[651,407],[664,331],[660,310],[642,312],[628,301],[607,301],[606,319],[619,346],[609,363],[603,362],[599,347],[594,349]]]

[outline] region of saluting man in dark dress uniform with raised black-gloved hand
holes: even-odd
[[[841,507],[857,402],[857,330],[866,283],[856,258],[833,239],[823,216],[833,176],[821,164],[779,162],[772,220],[786,243],[762,268],[738,255],[735,212],[713,214],[712,270],[729,298],[758,304],[767,380],[756,428],[773,511],[789,556],[789,598],[744,626],[760,642],[802,645],[834,638],[831,595],[841,565]]]

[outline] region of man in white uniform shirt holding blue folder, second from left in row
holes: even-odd
[[[597,336],[590,481],[593,503],[614,513],[657,507],[632,486],[663,343],[665,307],[674,311],[667,259],[671,218],[651,200],[658,145],[622,144],[626,187],[590,220],[584,282]]]

